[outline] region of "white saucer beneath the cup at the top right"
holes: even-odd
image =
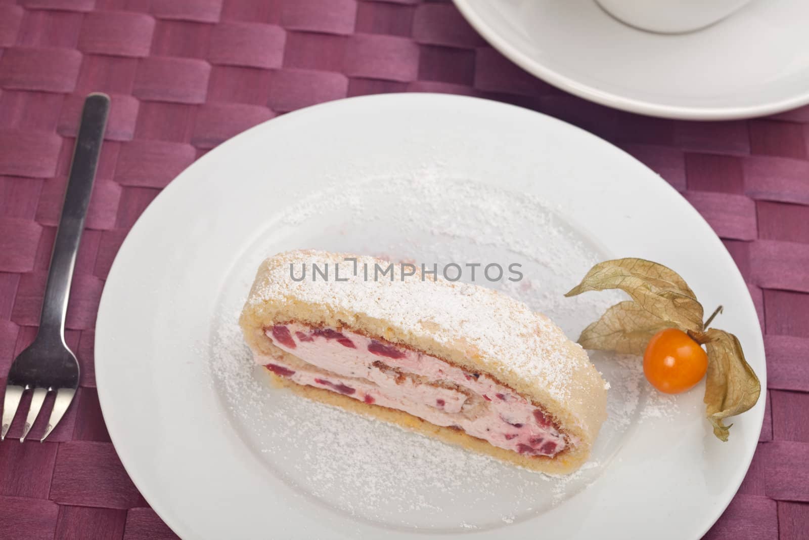
[[[658,117],[722,120],[809,103],[809,2],[754,0],[698,32],[630,28],[595,0],[455,0],[501,53],[565,91]]]

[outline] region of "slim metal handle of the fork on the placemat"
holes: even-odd
[[[45,286],[40,317],[41,338],[64,338],[70,283],[73,281],[73,269],[78,244],[82,240],[87,206],[90,205],[108,112],[108,96],[100,93],[87,96],[82,110],[82,121],[78,127],[73,163],[70,164],[65,204],[61,209],[59,228],[53,243],[48,284]]]

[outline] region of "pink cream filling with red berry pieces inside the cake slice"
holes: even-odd
[[[268,357],[256,361],[299,385],[404,410],[521,454],[554,456],[567,445],[543,410],[485,374],[347,331],[290,323],[265,334],[307,366]]]

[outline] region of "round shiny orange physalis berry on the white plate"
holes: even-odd
[[[667,328],[651,338],[643,355],[643,374],[663,393],[693,388],[705,376],[708,355],[682,330]]]

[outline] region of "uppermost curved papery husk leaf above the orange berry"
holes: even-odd
[[[645,259],[625,258],[593,266],[565,296],[621,289],[654,317],[684,330],[702,330],[702,305],[674,270]]]

